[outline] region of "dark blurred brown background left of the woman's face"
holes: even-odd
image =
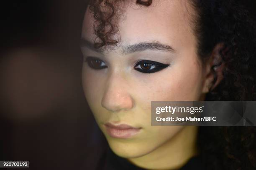
[[[1,3],[0,161],[66,170],[90,160],[98,131],[81,82],[86,7],[86,0]]]

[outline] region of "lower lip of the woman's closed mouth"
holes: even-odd
[[[115,128],[110,128],[109,126],[105,126],[107,129],[108,135],[110,135],[112,138],[121,138],[121,139],[128,139],[136,134],[139,133],[141,130],[140,128],[129,128],[129,129],[115,129]]]

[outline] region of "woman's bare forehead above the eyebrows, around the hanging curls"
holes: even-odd
[[[139,42],[159,41],[172,46],[184,45],[192,40],[194,10],[187,0],[153,0],[149,7],[136,4],[134,0],[125,4],[118,19],[119,43],[130,45]],[[86,11],[82,37],[94,42],[93,14]]]

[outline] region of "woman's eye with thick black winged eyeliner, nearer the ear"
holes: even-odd
[[[143,73],[153,73],[153,72],[158,72],[160,70],[163,70],[168,66],[169,64],[163,64],[156,61],[141,60],[136,63],[136,65],[134,66],[134,69]]]

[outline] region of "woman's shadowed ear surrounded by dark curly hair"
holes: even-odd
[[[205,63],[205,83],[203,85],[203,93],[213,90],[223,79],[222,71],[225,64],[222,60],[221,52],[224,47],[224,43],[217,44],[212,50],[210,58]]]

